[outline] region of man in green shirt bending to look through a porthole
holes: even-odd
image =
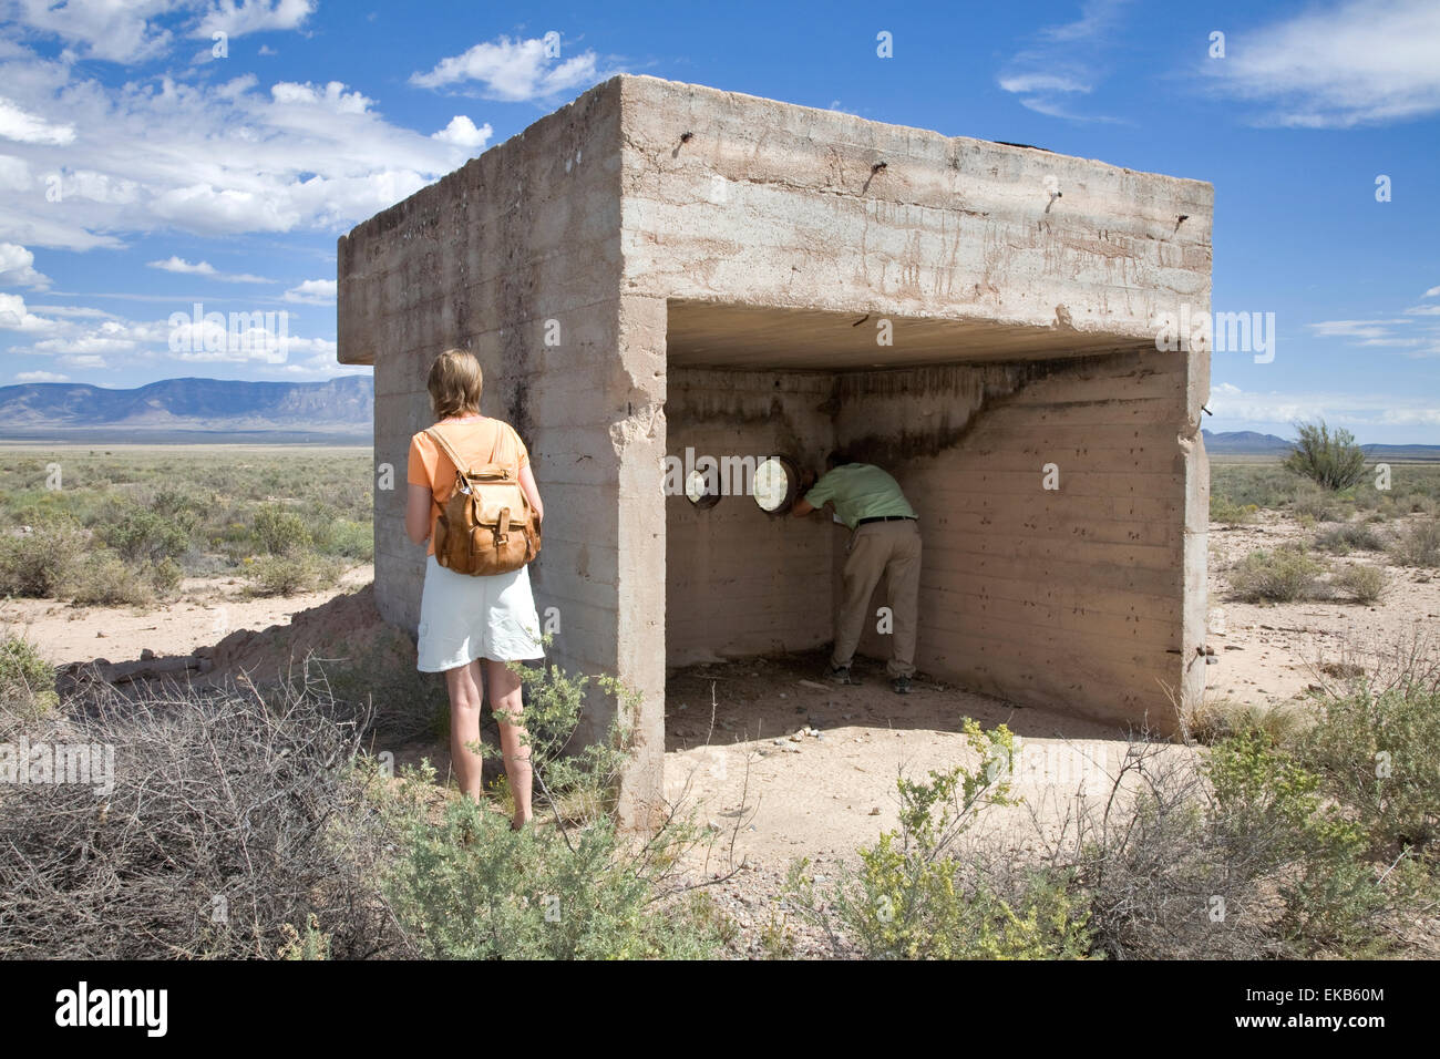
[[[851,683],[850,663],[868,620],[870,595],[884,573],[894,621],[886,670],[896,693],[909,694],[920,594],[920,529],[914,509],[894,478],[873,464],[851,463],[838,450],[827,457],[825,474],[795,501],[791,514],[804,517],[825,504],[835,509],[835,517],[850,530],[844,596],[835,615],[835,650],[827,676],[841,684]]]

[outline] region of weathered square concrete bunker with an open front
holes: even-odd
[[[413,627],[405,444],[431,357],[464,344],[534,455],[556,660],[642,697],[632,820],[660,797],[667,656],[824,637],[842,552],[747,499],[667,499],[661,460],[685,444],[865,447],[924,519],[922,667],[1168,728],[1164,686],[1204,679],[1210,382],[1204,350],[1153,340],[1159,314],[1210,311],[1211,213],[1201,182],[596,85],[340,241],[340,357],[376,365],[376,463],[397,468],[376,494],[377,599]],[[724,598],[737,586],[752,602]]]

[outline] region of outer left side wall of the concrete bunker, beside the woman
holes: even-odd
[[[338,243],[340,357],[374,363],[374,460],[395,468],[395,488],[376,491],[382,615],[410,631],[419,621],[423,550],[403,532],[406,454],[433,422],[432,359],[467,347],[485,370],[482,411],[520,431],[540,483],[544,549],[530,571],[541,615],[559,615],[552,657],[592,673],[622,667],[615,496],[634,473],[613,434],[631,411],[616,356],[618,137],[618,94],[586,94]]]

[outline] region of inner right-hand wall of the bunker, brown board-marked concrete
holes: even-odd
[[[888,467],[920,513],[923,671],[1174,726],[1171,696],[1204,671],[1185,650],[1185,465],[1201,454],[1176,445],[1184,382],[1185,357],[1155,350],[841,377],[841,444]],[[888,650],[873,628],[861,641]]]

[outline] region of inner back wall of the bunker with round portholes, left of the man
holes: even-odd
[[[818,372],[670,370],[671,455],[788,455],[822,464],[835,444],[835,379]],[[795,651],[831,638],[837,535],[769,516],[749,496],[697,509],[665,499],[665,663]]]

